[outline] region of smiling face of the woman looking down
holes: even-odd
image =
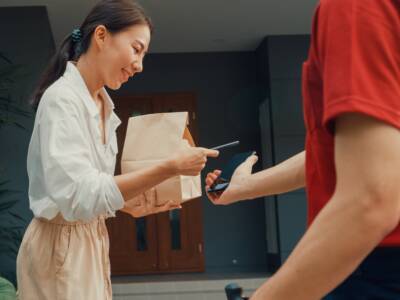
[[[106,33],[98,59],[104,85],[117,90],[143,71],[143,58],[151,33],[147,25],[133,25],[115,34]]]

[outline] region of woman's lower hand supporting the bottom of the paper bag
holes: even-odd
[[[121,211],[130,214],[134,218],[140,218],[180,208],[182,208],[180,203],[175,203],[173,201],[168,201],[164,205],[158,206],[155,189],[151,189],[145,194],[141,194],[131,200],[125,201],[125,206]]]

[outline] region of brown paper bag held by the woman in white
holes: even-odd
[[[187,123],[187,112],[130,118],[122,152],[122,174],[153,166],[182,148],[195,146]],[[158,206],[198,198],[202,194],[200,175],[172,177],[157,185],[151,194]]]

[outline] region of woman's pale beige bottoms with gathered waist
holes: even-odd
[[[17,257],[19,300],[112,299],[105,219],[34,218]]]

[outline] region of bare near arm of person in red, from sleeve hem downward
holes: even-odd
[[[336,120],[335,193],[252,300],[321,299],[355,270],[399,224],[399,149],[398,128],[357,114]]]

